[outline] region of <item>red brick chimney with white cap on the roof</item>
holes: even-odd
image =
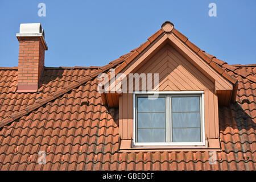
[[[48,49],[41,23],[22,23],[19,27],[19,64],[16,92],[36,92],[44,71],[44,51]]]

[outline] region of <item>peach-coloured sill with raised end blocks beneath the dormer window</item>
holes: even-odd
[[[132,140],[121,139],[120,151],[221,151],[218,138],[208,139],[205,145],[162,145],[162,146],[134,146]]]

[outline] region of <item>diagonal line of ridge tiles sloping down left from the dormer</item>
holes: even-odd
[[[63,94],[69,92],[70,90],[77,88],[78,86],[84,84],[85,82],[91,80],[92,78],[96,77],[100,73],[103,73],[107,71],[110,68],[113,68],[116,64],[107,64],[104,67],[100,67],[97,71],[92,72],[92,75],[86,75],[85,77],[79,78],[78,80],[73,81],[71,84],[64,86],[60,90],[57,90],[56,92],[53,92],[49,94],[49,96],[45,98],[41,98],[40,100],[36,101],[34,104],[28,105],[27,107],[24,107],[24,109],[18,111],[17,113],[11,114],[2,121],[0,121],[0,128],[2,128],[5,125],[8,125],[9,123],[15,121],[16,119],[23,117],[26,114],[31,113],[31,111],[34,111],[35,109],[38,109],[40,106],[47,104],[48,102],[55,100],[57,97],[62,96]]]

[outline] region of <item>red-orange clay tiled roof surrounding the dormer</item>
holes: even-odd
[[[0,170],[255,170],[256,65],[229,65],[172,32],[222,76],[238,84],[219,107],[221,151],[119,152],[118,109],[104,105],[96,76],[121,70],[147,42],[104,67],[45,68],[38,93],[15,93],[17,68],[0,68]],[[39,151],[46,165],[37,164]]]

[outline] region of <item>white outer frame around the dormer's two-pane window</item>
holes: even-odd
[[[136,133],[137,133],[137,104],[136,96],[139,95],[150,95],[150,94],[172,94],[172,95],[188,95],[188,94],[197,94],[200,95],[200,122],[201,122],[201,142],[136,142]],[[168,102],[167,102],[168,103]],[[170,114],[166,114],[169,115]],[[167,117],[169,117],[167,116]],[[171,116],[172,117],[172,116]],[[170,119],[169,119],[170,121]],[[171,123],[170,123],[171,124]],[[170,125],[169,124],[169,125]],[[167,123],[168,125],[168,123]],[[135,91],[133,92],[133,145],[134,146],[205,146],[205,123],[204,123],[204,91]]]

